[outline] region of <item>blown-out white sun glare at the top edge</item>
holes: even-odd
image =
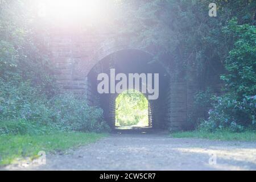
[[[108,17],[113,2],[113,0],[39,0],[39,14],[67,22],[84,20],[93,23]]]

